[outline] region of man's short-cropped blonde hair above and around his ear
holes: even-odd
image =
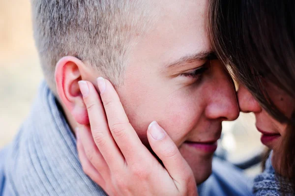
[[[149,0],[32,0],[33,29],[44,77],[55,91],[55,67],[76,56],[116,85],[128,49],[151,24]]]

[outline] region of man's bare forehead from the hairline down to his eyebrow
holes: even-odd
[[[176,0],[173,2],[177,4]],[[152,28],[137,40],[130,51],[130,62],[148,62],[162,69],[212,56],[204,13],[207,0],[179,2],[178,7],[167,5],[171,9],[166,7]]]

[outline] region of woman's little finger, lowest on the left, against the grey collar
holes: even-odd
[[[83,171],[96,183],[101,186],[105,185],[105,180],[103,179],[102,175],[97,171],[96,168],[90,163],[85,149],[83,147],[82,141],[79,137],[79,131],[76,132],[77,136],[77,151],[78,151],[78,156],[83,168]]]

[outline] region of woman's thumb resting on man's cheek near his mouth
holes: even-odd
[[[176,185],[190,181],[190,186],[196,189],[192,170],[180,154],[174,141],[167,135],[156,121],[148,126],[148,141],[155,154],[161,159]]]

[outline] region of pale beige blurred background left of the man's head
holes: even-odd
[[[29,0],[0,0],[0,148],[29,113],[42,74]]]

